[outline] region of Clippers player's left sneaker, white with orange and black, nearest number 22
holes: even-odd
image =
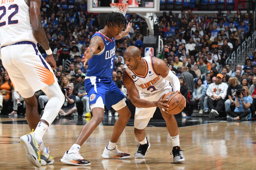
[[[68,165],[78,165],[78,166],[91,165],[91,163],[85,160],[78,151],[74,151],[72,153],[68,153],[68,151],[66,151],[62,159],[60,159],[60,161]]]

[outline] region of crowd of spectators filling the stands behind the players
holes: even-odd
[[[231,14],[227,11],[224,14],[218,11],[213,16],[200,17],[194,12],[189,10],[185,13],[182,10],[181,13],[173,14],[169,11],[169,14],[163,12],[158,17],[159,35],[165,46],[159,58],[180,78],[181,92],[188,103],[182,116],[191,116],[198,104],[199,114],[209,113],[209,118],[215,118],[224,111],[225,114],[228,113],[228,120],[238,120],[237,116],[240,116],[244,106],[241,102],[244,100],[244,110],[251,108],[251,118],[255,113],[256,100],[256,51],[253,50],[252,55],[246,56],[245,63],[237,65],[236,70],[230,69],[226,59],[250,35],[252,13],[247,11],[242,14],[237,11]],[[104,23],[100,23],[100,14],[89,13],[84,0],[42,0],[41,16],[58,66],[54,73],[66,97],[60,116],[75,115],[76,105],[82,103],[83,116],[91,117],[88,95],[84,89],[87,65],[83,66],[81,57],[89,47],[92,35],[104,26]],[[129,102],[122,82],[126,67],[123,53],[130,45],[143,51],[142,27],[145,22],[135,13],[126,14],[125,17],[133,26],[126,37],[116,41],[113,80],[126,96],[126,102]],[[45,57],[44,49],[40,45],[38,49]],[[70,61],[68,69],[63,68],[63,60]],[[220,65],[222,70],[219,69]],[[3,100],[13,100],[13,112],[9,115],[15,115],[17,106],[22,105],[23,99],[19,93],[12,93],[12,83],[5,75],[2,64],[0,68],[0,108],[3,107]],[[246,99],[236,96],[237,89],[247,90]],[[245,96],[244,91],[242,95]],[[39,92],[37,97],[39,112],[43,114],[47,96]],[[110,115],[114,113],[112,111]],[[240,116],[239,119],[247,117],[248,114]]]

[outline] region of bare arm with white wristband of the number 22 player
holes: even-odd
[[[52,70],[56,69],[56,62],[51,54],[51,49],[49,46],[49,42],[46,38],[46,34],[44,32],[44,28],[41,22],[41,0],[30,0],[29,1],[29,15],[30,22],[32,25],[33,35],[36,41],[44,48],[44,50],[49,50],[47,56],[45,57],[46,62],[50,63]]]

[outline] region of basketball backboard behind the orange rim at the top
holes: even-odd
[[[88,11],[93,13],[113,12],[110,3],[127,3],[126,13],[159,12],[159,0],[87,0]]]

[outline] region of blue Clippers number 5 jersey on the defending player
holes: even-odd
[[[100,30],[101,31],[101,30]],[[96,32],[94,36],[100,36],[105,44],[105,49],[102,54],[93,55],[88,60],[87,76],[96,76],[100,78],[112,78],[115,60],[115,38],[112,37],[110,40],[102,33]]]

